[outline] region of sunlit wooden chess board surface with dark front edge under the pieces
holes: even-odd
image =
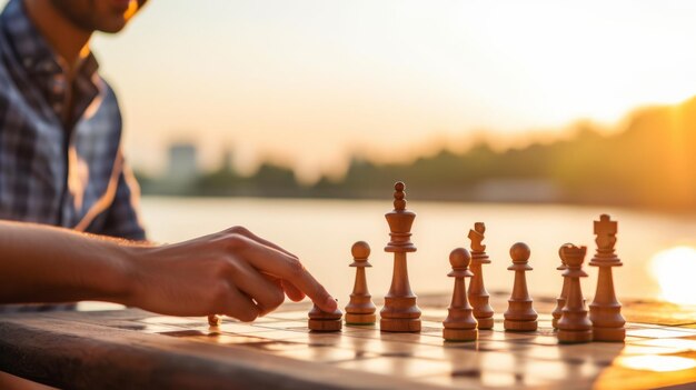
[[[60,350],[56,343],[62,339],[70,351],[58,354],[69,363],[50,369],[58,380],[40,379],[72,388],[105,383],[113,388],[220,388],[220,383],[225,388],[317,389],[696,387],[693,312],[666,303],[625,302],[629,321],[625,343],[558,344],[548,314],[553,300],[535,302],[539,312],[535,332],[504,331],[504,294],[494,294],[491,302],[494,330],[480,331],[475,342],[443,340],[446,297],[419,299],[420,333],[380,332],[376,326],[310,332],[306,303],[285,304],[253,323],[225,319],[219,327],[209,327],[205,318],[141,310],[12,314],[0,320],[0,356],[4,357],[0,369],[34,379],[46,376],[37,367],[40,371],[41,364],[50,363],[46,354]],[[22,341],[24,337],[29,341]],[[32,360],[31,346],[41,348],[41,361]],[[33,373],[12,366],[11,353],[17,349],[23,349],[22,363],[33,364]]]

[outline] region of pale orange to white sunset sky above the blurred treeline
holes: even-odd
[[[1,2],[1,1],[0,1]],[[518,140],[696,94],[693,1],[150,0],[93,41],[133,166],[171,141],[311,180],[347,157]],[[476,136],[477,137],[477,136]],[[506,141],[500,141],[506,142]]]

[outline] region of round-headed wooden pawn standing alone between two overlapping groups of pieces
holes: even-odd
[[[513,294],[508,300],[508,308],[503,322],[505,330],[510,331],[534,331],[537,330],[537,312],[531,307],[531,297],[527,290],[526,271],[531,271],[529,267],[529,247],[524,242],[517,242],[510,248],[513,266],[507,269],[515,271],[515,284]]]

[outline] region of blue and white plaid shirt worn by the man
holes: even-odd
[[[0,14],[0,219],[145,239],[121,114],[90,53],[72,84],[20,0]]]

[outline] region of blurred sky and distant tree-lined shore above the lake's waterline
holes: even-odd
[[[146,194],[689,211],[694,10],[152,0],[93,50]]]

